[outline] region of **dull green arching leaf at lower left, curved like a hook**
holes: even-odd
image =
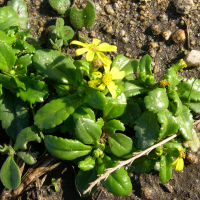
[[[41,142],[42,139],[38,135],[38,128],[36,126],[30,126],[23,129],[17,136],[14,149],[27,149],[27,143],[30,141]]]

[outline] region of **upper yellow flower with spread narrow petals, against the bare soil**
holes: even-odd
[[[80,42],[80,41],[77,41],[77,40],[72,41],[70,44],[76,44],[76,45],[79,45],[79,46],[83,47],[83,48],[77,49],[75,51],[75,54],[77,56],[80,56],[83,53],[87,52],[86,60],[89,61],[89,62],[92,62],[93,59],[94,59],[94,56],[96,54],[97,57],[102,60],[104,65],[110,65],[111,64],[110,58],[107,57],[106,55],[104,55],[101,51],[103,51],[103,52],[117,51],[117,47],[114,46],[114,45],[110,45],[108,43],[102,43],[102,44],[99,45],[100,42],[101,42],[101,40],[93,38],[93,41],[92,41],[91,44],[83,43],[83,42]]]

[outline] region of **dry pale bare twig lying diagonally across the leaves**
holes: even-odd
[[[90,193],[92,188],[97,185],[98,183],[100,183],[101,180],[105,180],[108,178],[108,176],[116,171],[117,169],[120,169],[121,167],[123,167],[124,165],[128,165],[130,163],[132,163],[134,160],[136,160],[137,158],[140,158],[141,156],[145,155],[145,154],[149,154],[153,149],[165,144],[166,142],[169,142],[170,140],[174,139],[175,137],[177,137],[177,134],[173,134],[171,135],[170,137],[168,137],[167,139],[159,142],[158,144],[155,144],[151,147],[149,147],[148,149],[144,150],[144,151],[141,151],[139,152],[136,156],[133,156],[132,158],[129,158],[128,160],[125,160],[125,161],[121,161],[117,166],[113,167],[113,168],[108,168],[106,169],[106,172],[102,175],[99,176],[98,179],[96,179],[94,182],[90,183],[90,186],[87,188],[87,190],[85,190],[83,192],[83,194],[86,194],[86,193]]]

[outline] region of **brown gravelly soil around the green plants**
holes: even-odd
[[[37,19],[28,22],[32,28],[31,35],[38,38],[44,45],[46,29],[55,25],[56,18],[63,17],[66,25],[71,25],[69,19],[59,15],[51,8],[48,0],[25,0],[28,5],[29,17]],[[86,0],[74,0],[78,8],[84,8]],[[91,30],[82,28],[80,34],[88,41],[98,38],[102,42],[116,45],[117,54],[129,58],[141,58],[149,53],[153,58],[152,69],[156,79],[160,80],[166,69],[192,49],[200,50],[200,3],[194,0],[194,7],[189,14],[177,13],[173,0],[93,0],[96,8],[96,20]],[[7,0],[0,0],[0,6],[6,5]],[[111,5],[112,9],[107,8]],[[110,14],[109,14],[110,13]],[[175,43],[170,37],[166,40],[162,33],[183,30],[180,37],[185,39]],[[76,31],[77,32],[77,31]],[[45,46],[44,46],[45,48]],[[74,48],[70,46],[62,49],[63,53],[75,58]],[[107,54],[113,59],[116,54]],[[75,58],[76,59],[76,58]],[[184,78],[199,77],[200,68],[186,68],[179,72]],[[9,139],[6,138],[6,141]],[[5,141],[5,142],[6,142]],[[200,151],[193,155],[200,159]],[[2,162],[4,157],[1,156]],[[58,162],[58,161],[56,161]],[[73,162],[59,161],[61,164],[47,173],[47,178],[41,187],[36,188],[35,183],[21,193],[17,199],[82,199],[76,191],[76,166]],[[183,172],[173,171],[172,179],[162,184],[157,172],[140,176],[130,174],[133,190],[126,197],[117,197],[99,185],[97,191],[84,199],[169,199],[186,200],[200,199],[200,165],[190,164],[186,161]],[[55,192],[51,186],[51,178],[56,178],[59,190]],[[42,179],[42,177],[40,177]],[[1,183],[0,183],[1,184]],[[0,186],[3,189],[3,186]],[[38,191],[39,190],[39,191]],[[4,190],[5,192],[5,190]]]

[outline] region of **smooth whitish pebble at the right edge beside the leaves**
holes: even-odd
[[[199,67],[200,66],[200,51],[192,50],[186,55],[184,60],[188,67]]]

